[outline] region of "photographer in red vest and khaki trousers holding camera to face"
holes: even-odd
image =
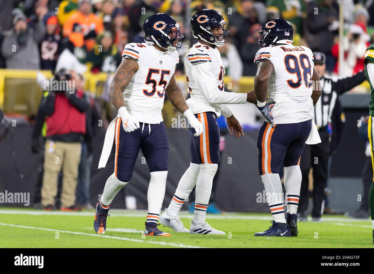
[[[46,143],[42,205],[55,208],[58,173],[62,170],[61,210],[76,210],[76,187],[81,146],[86,133],[89,101],[82,89],[75,89],[75,71],[61,69],[50,84],[39,110],[46,116]]]

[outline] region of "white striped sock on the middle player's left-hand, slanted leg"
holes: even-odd
[[[190,163],[190,166],[188,167],[186,172],[184,172],[182,178],[178,183],[177,190],[175,190],[175,194],[171,199],[168,207],[170,216],[178,215],[184,201],[187,199],[188,195],[190,195],[191,191],[193,190],[193,187],[196,185],[199,171],[199,164]]]

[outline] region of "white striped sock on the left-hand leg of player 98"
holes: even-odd
[[[261,175],[261,180],[265,187],[266,200],[269,204],[273,220],[279,223],[285,223],[282,183],[279,174],[269,173]]]

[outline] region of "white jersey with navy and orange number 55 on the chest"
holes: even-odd
[[[123,58],[138,62],[139,69],[123,90],[125,107],[140,122],[158,124],[163,121],[161,110],[165,89],[179,63],[177,51],[161,52],[146,43],[129,43],[122,52]]]

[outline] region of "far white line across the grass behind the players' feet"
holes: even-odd
[[[186,211],[185,211],[186,212]],[[62,216],[94,216],[94,211],[43,211],[43,210],[1,210],[0,214],[24,214],[24,215],[62,215]],[[111,209],[110,217],[144,217],[147,211],[144,210],[124,210],[124,209]],[[234,213],[235,214],[235,213]],[[181,213],[181,218],[193,218],[193,214]],[[243,216],[233,215],[233,213],[227,213],[223,215],[212,215],[208,214],[207,219],[243,219],[243,220],[271,220],[271,216]],[[353,218],[334,218],[334,217],[322,217],[322,221],[326,222],[370,222],[369,219],[353,219]]]

